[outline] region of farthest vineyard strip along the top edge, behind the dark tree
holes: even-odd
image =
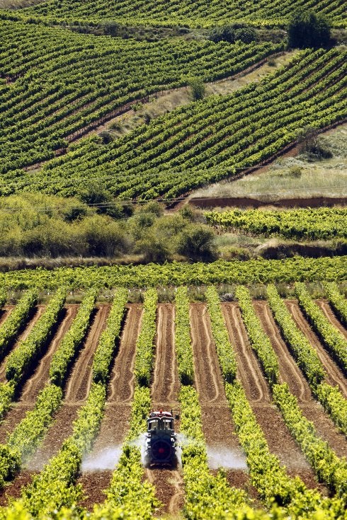
[[[97,4],[91,0],[50,0],[28,9],[28,12],[69,20],[112,19],[132,24],[208,27],[230,21],[247,21],[259,25],[285,23],[290,13],[302,6],[326,14],[336,25],[343,23],[343,0],[101,0]]]

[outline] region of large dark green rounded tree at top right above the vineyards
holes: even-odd
[[[288,27],[289,47],[326,47],[330,40],[330,26],[326,18],[314,11],[297,11]]]

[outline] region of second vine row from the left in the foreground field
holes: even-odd
[[[66,287],[61,287],[47,305],[45,313],[35,323],[27,339],[22,341],[18,347],[8,356],[6,364],[6,379],[13,381],[16,388],[21,384],[28,374],[30,367],[38,359],[43,348],[52,334],[52,328],[59,314],[64,308],[67,296]]]

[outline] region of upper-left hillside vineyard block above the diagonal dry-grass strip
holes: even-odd
[[[10,176],[150,94],[192,76],[232,76],[281,48],[265,42],[230,52],[227,42],[137,42],[6,20],[0,31],[0,172]]]

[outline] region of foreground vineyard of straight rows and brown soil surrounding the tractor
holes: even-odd
[[[101,304],[89,289],[69,304],[62,287],[39,306],[2,294],[0,518],[343,519],[347,365],[331,338],[346,353],[346,299],[324,290],[282,299],[270,284],[252,301],[238,285],[221,303],[210,286],[193,303],[179,287],[163,304],[148,289],[128,304],[116,289]],[[141,462],[159,408],[179,412],[174,469]]]

